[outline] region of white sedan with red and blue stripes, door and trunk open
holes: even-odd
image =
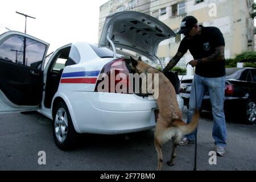
[[[111,92],[110,87],[100,92],[99,75],[113,70],[130,73],[127,57],[117,55],[116,48],[155,60],[158,44],[172,36],[174,32],[159,20],[125,11],[106,19],[98,46],[68,44],[44,65],[48,43],[21,32],[5,32],[0,35],[0,112],[37,110],[46,115],[53,120],[53,136],[61,150],[72,148],[81,133],[153,129],[158,106],[149,99],[152,96]],[[179,95],[177,100],[182,109]]]

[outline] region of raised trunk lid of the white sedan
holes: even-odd
[[[171,28],[150,15],[123,11],[106,18],[99,47],[109,47],[109,38],[116,48],[135,51],[155,60],[159,43],[174,36]]]

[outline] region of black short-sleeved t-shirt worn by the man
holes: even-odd
[[[224,37],[217,27],[202,27],[200,35],[192,39],[184,37],[181,40],[179,52],[186,53],[189,49],[194,59],[203,59],[211,56],[218,46],[225,46]],[[196,74],[203,77],[225,76],[225,60],[201,63],[196,66]]]

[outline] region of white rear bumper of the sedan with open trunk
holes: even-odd
[[[155,127],[158,106],[148,97],[97,92],[65,95],[69,98],[69,110],[78,133],[123,134]]]

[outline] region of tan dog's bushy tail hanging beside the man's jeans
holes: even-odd
[[[174,122],[173,125],[176,125],[176,127],[181,131],[183,135],[187,135],[192,133],[198,125],[199,120],[199,110],[195,110],[191,122],[186,125],[184,122],[181,124],[180,122]]]

